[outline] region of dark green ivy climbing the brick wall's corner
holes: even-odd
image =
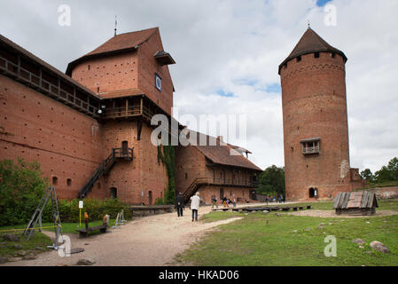
[[[163,148],[163,151],[161,149]],[[176,149],[174,146],[158,146],[158,163],[166,166],[168,188],[165,192],[164,204],[174,204],[176,201]],[[160,201],[156,201],[160,204]]]

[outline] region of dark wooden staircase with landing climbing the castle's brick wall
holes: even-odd
[[[120,160],[132,161],[133,149],[113,148],[112,153],[104,160],[104,162],[101,162],[97,170],[90,177],[89,181],[85,185],[83,185],[82,189],[79,192],[79,199],[86,197],[98,181],[99,177],[109,174],[109,171],[112,170],[115,162],[118,162]]]

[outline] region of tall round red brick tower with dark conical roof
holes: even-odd
[[[308,28],[279,66],[288,201],[351,191],[346,62],[342,51]]]

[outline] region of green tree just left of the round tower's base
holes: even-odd
[[[264,170],[259,177],[259,187],[256,190],[261,194],[283,194],[285,196],[285,168],[275,165]]]

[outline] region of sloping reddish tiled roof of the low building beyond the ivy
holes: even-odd
[[[198,133],[197,145],[191,144],[191,146],[196,147],[211,162],[221,165],[262,171],[253,162],[250,162],[248,159],[246,159],[246,157],[244,157],[240,151],[237,151],[237,146],[221,143],[218,138],[195,132],[193,130],[190,130],[190,133],[190,138],[193,137],[194,133]],[[200,137],[202,138],[202,141],[207,141],[207,146],[199,146]]]

